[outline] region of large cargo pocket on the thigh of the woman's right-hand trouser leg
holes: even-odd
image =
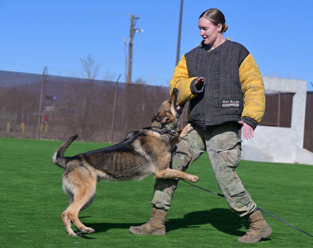
[[[217,143],[217,151],[224,159],[224,166],[237,168],[241,156],[241,140],[236,136],[229,139],[221,140]]]

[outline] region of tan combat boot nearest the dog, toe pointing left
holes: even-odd
[[[141,226],[131,226],[130,232],[138,235],[154,234],[165,235],[165,220],[167,212],[162,209],[157,209],[154,205],[152,208],[152,215],[150,220]]]

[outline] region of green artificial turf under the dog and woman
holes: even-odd
[[[312,247],[313,238],[263,213],[273,233],[256,244],[237,243],[248,222],[225,199],[179,182],[168,211],[167,235],[133,235],[132,225],[151,216],[153,176],[97,185],[80,220],[95,233],[67,235],[61,213],[68,207],[63,169],[51,157],[60,141],[0,137],[0,247]],[[108,144],[73,142],[66,156]],[[258,207],[313,235],[313,166],[242,161],[236,169]],[[220,193],[208,155],[187,170],[197,186]],[[73,226],[75,232],[77,228]]]

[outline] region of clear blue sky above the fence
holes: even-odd
[[[177,52],[180,0],[0,0],[0,70],[81,77],[80,58],[100,65],[98,79],[125,81],[124,38],[135,28],[132,81],[167,86]],[[220,9],[225,37],[243,44],[263,76],[305,80],[313,90],[313,1],[183,1],[180,57],[202,40],[199,15]]]

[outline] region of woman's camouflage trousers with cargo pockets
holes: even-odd
[[[245,190],[235,169],[239,166],[241,140],[238,124],[228,122],[208,130],[194,127],[187,141],[181,140],[173,151],[171,168],[186,171],[189,165],[207,151],[213,173],[230,209],[244,216],[256,209],[256,204]],[[157,179],[151,204],[164,210],[169,209],[179,179]]]

